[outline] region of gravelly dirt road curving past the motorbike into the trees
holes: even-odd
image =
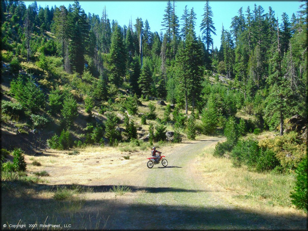
[[[201,177],[195,164],[204,148],[219,140],[222,138],[190,141],[165,153],[167,168],[158,164],[148,169],[146,161],[141,161],[122,176],[123,185],[130,185],[133,191],[146,192],[132,196],[130,202],[115,205],[106,228],[305,229],[303,217],[253,214],[213,196],[213,187],[208,186],[210,182]],[[121,174],[111,177],[110,184],[122,177]]]

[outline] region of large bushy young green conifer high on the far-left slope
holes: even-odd
[[[18,76],[17,80],[13,79],[11,81],[10,86],[10,92],[23,107],[31,111],[37,111],[39,108],[44,107],[45,95],[33,79],[27,78],[24,83],[22,78]]]

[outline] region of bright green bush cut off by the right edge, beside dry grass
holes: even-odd
[[[308,210],[308,197],[307,197],[307,158],[302,160],[295,170],[296,182],[291,192],[291,201],[299,209]]]

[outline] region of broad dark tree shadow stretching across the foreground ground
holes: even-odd
[[[16,182],[15,182],[16,183]],[[15,184],[13,183],[13,184]],[[91,229],[91,225],[99,230],[105,229],[276,229],[276,230],[306,230],[306,217],[291,214],[289,216],[255,213],[240,208],[221,207],[207,203],[204,206],[169,205],[169,201],[133,201],[127,203],[122,196],[102,199],[102,194],[93,194],[91,200],[72,198],[55,201],[50,197],[40,197],[39,192],[31,189],[22,193],[22,187],[13,190],[13,185],[3,188],[1,194],[1,222],[17,224],[21,219],[28,224],[43,224],[48,216],[49,221],[57,224],[72,224],[72,229]],[[46,185],[45,185],[46,186]],[[67,186],[69,185],[62,185]],[[46,186],[47,187],[47,186]],[[52,185],[49,187],[53,187]],[[93,187],[94,192],[108,191],[112,185],[87,186]],[[179,188],[132,188],[133,192],[144,189],[152,193],[160,192],[198,192]],[[3,191],[4,189],[4,191]],[[17,191],[15,191],[17,190]],[[3,193],[4,192],[4,193]],[[129,195],[129,194],[127,194]],[[159,195],[159,194],[158,194]],[[183,194],[182,194],[183,195]],[[193,197],[194,194],[188,195]],[[74,196],[75,197],[75,196]],[[78,197],[78,195],[76,195]],[[82,194],[80,198],[82,198]],[[127,198],[127,197],[126,197]],[[170,199],[171,200],[171,199]],[[185,203],[185,204],[184,204]],[[78,204],[78,205],[77,205]],[[188,203],[187,203],[188,204]],[[201,203],[202,204],[202,203]],[[80,206],[79,206],[80,205]],[[149,221],[153,214],[157,221]],[[108,220],[106,220],[108,218]],[[103,222],[99,222],[99,219]],[[34,224],[33,223],[33,224]],[[48,223],[48,222],[47,222]],[[106,225],[104,227],[104,225]],[[94,228],[94,226],[92,226]]]

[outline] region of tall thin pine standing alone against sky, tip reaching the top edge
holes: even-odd
[[[211,36],[211,33],[215,34],[215,27],[214,27],[214,23],[213,23],[213,12],[212,12],[212,8],[209,6],[209,0],[206,0],[206,4],[204,6],[204,14],[202,14],[203,19],[201,21],[201,31],[202,31],[202,39],[204,39],[206,47],[207,47],[207,51],[209,53],[209,46],[213,43],[213,39]]]

